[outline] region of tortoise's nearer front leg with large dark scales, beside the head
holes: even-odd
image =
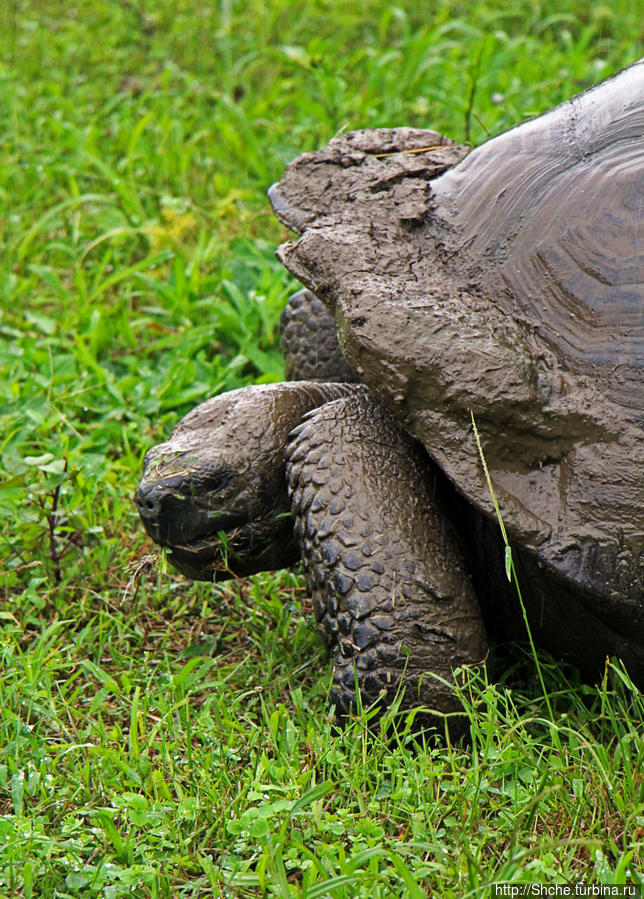
[[[359,388],[309,413],[287,449],[295,532],[340,718],[389,705],[450,714],[454,668],[483,664],[487,639],[466,563],[437,498],[424,450]],[[455,717],[451,717],[456,713]],[[419,713],[416,724],[438,723]]]

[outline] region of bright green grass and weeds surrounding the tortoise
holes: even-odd
[[[3,5],[0,896],[641,882],[643,701],[617,663],[585,685],[542,657],[547,702],[529,657],[464,680],[469,745],[369,710],[338,733],[297,574],[184,581],[131,502],[180,415],[282,376],[264,192],[288,160],[344,127],[480,142],[637,58],[641,13]]]

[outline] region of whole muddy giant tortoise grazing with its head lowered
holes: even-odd
[[[535,643],[644,681],[643,135],[641,61],[471,152],[356,131],[271,188],[325,380],[199,406],[136,501],[189,577],[301,554],[340,714],[452,712],[452,671],[523,632],[473,421]]]

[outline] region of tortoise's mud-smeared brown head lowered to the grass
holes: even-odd
[[[302,416],[336,392],[310,382],[233,390],[197,406],[147,453],[135,503],[176,568],[218,581],[298,560],[284,449]]]

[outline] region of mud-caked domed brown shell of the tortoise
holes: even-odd
[[[590,610],[644,667],[644,61],[466,152],[401,128],[305,154],[269,193],[301,235],[279,256],[489,521],[474,417],[542,623]]]

